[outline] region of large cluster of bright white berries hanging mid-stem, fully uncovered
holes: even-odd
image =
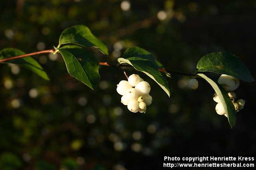
[[[120,81],[116,91],[122,95],[121,103],[127,105],[134,113],[145,113],[147,106],[152,104],[152,97],[149,95],[150,85],[138,74],[130,75],[128,81]]]

